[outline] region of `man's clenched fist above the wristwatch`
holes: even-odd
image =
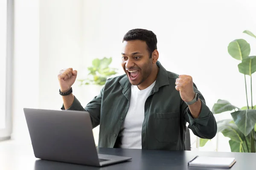
[[[180,92],[180,97],[184,102],[190,102],[195,98],[193,80],[191,76],[180,75],[176,79],[175,88]]]

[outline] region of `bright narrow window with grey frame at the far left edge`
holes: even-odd
[[[13,0],[0,1],[0,140],[11,135]]]

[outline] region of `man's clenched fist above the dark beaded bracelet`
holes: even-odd
[[[67,92],[76,81],[77,71],[73,68],[63,69],[58,74],[61,92]]]

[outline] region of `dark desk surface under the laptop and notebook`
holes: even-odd
[[[235,157],[231,170],[256,170],[256,153],[197,151],[159,151],[99,148],[99,153],[131,157],[131,161],[106,167],[89,167],[45,161],[34,156],[31,144],[0,142],[0,170],[223,170],[220,168],[188,167],[195,156]],[[227,169],[226,169],[227,170]]]

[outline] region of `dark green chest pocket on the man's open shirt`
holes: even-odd
[[[180,112],[154,113],[154,136],[160,143],[178,140]]]

